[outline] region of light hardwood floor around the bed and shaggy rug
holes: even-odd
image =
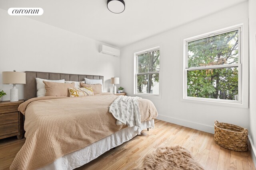
[[[0,169],[8,169],[24,144],[15,137],[0,140]],[[155,128],[111,149],[76,170],[130,170],[142,166],[158,147],[180,145],[192,152],[206,170],[255,170],[250,152],[234,152],[214,143],[213,134],[155,120]]]

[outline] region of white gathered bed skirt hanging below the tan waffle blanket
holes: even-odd
[[[140,129],[154,128],[154,119],[150,121],[143,121],[141,127],[142,128]],[[138,127],[136,126],[121,129],[120,131],[117,131],[100,141],[92,143],[83,149],[66,154],[38,170],[72,170],[74,168],[78,168],[91,160],[94,160],[104,152],[129,141],[138,135],[137,130]]]

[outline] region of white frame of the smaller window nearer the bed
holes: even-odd
[[[144,53],[150,53],[152,51],[157,51],[159,50],[159,53],[161,53],[160,46],[157,47],[152,47],[152,48],[147,48],[142,51],[137,51],[134,53],[134,95],[142,95],[142,96],[153,96],[153,97],[161,97],[161,59],[159,61],[159,71],[156,72],[148,72],[148,73],[138,73],[138,55],[144,54]],[[139,93],[137,92],[137,75],[140,74],[159,74],[159,93],[158,94],[149,94],[149,93]]]

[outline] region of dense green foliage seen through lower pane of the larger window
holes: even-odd
[[[238,100],[238,69],[188,71],[188,96]]]

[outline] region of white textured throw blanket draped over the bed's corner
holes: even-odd
[[[109,112],[116,118],[116,125],[128,127],[141,126],[139,97],[119,96],[109,107]]]

